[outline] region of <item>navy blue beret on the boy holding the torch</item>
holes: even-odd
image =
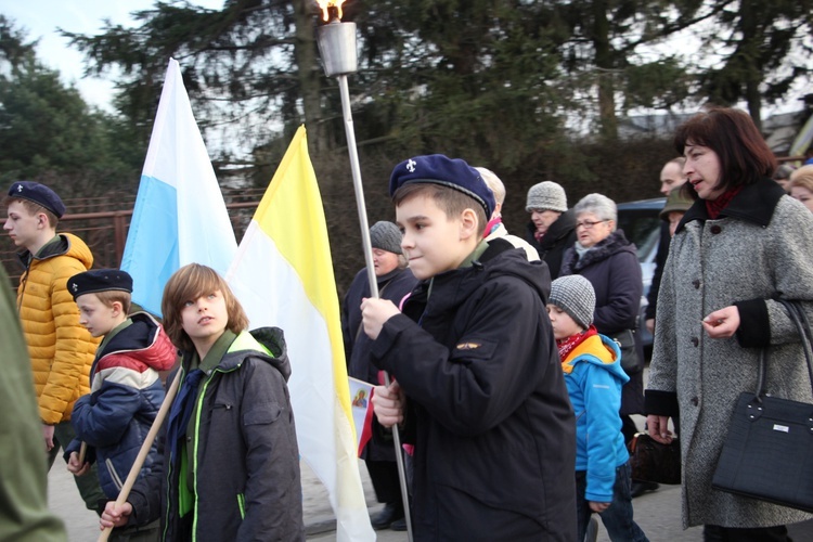
[[[389,177],[389,195],[404,184],[428,182],[448,186],[472,196],[486,210],[486,219],[494,211],[494,194],[480,172],[460,158],[442,154],[413,156],[400,163]]]

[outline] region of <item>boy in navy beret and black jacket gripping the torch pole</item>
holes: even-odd
[[[416,539],[576,540],[573,412],[543,263],[483,241],[494,198],[479,172],[416,156],[390,177],[401,248],[421,280],[401,313],[365,299],[385,426],[414,446]]]

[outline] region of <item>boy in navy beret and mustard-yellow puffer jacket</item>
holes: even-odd
[[[34,385],[48,451],[49,468],[60,449],[75,437],[70,425],[74,402],[90,390],[88,375],[99,341],[79,324],[79,310],[67,291],[67,280],[87,271],[93,255],[82,240],[56,233],[65,205],[44,184],[17,181],[3,202],[8,218],[3,230],[25,268],[17,288],[17,308],[31,354]],[[89,476],[75,478],[88,509],[99,511],[104,493],[95,465]]]

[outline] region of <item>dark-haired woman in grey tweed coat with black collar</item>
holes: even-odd
[[[775,299],[813,318],[813,215],[770,179],[775,158],[750,117],[710,108],[678,129],[684,190],[696,199],[672,238],[646,390],[649,434],[671,440],[680,412],[683,525],[705,540],[789,540],[809,514],[717,491],[711,479],[734,403],[757,386],[771,348],[767,391],[813,402],[800,337]]]

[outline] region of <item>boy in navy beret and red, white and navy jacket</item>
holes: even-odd
[[[99,465],[99,480],[109,500],[116,500],[141,450],[150,426],[164,402],[159,371],[168,371],[176,349],[162,325],[146,312],[128,318],[132,278],[117,269],[94,269],[68,279],[68,292],[79,307],[79,322],[93,337],[104,337],[96,350],[89,395],[76,401],[70,422],[76,438],[65,450],[68,470],[85,475]],[[80,461],[81,443],[88,454]],[[154,468],[155,443],[140,477]],[[113,540],[158,540],[159,520],[113,531]]]

